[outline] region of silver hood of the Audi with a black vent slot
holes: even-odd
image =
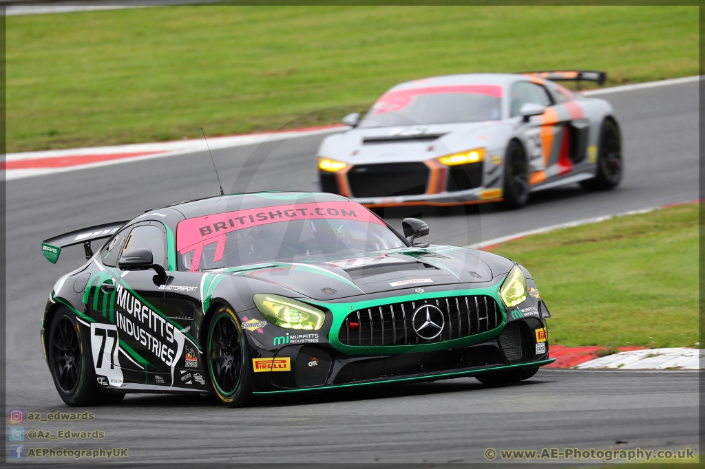
[[[319,154],[351,164],[425,161],[456,151],[492,144],[501,120],[477,123],[372,127],[328,137]]]

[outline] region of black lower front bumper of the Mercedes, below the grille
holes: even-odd
[[[435,381],[535,368],[553,362],[548,358],[547,340],[537,340],[536,331],[545,327],[540,318],[525,318],[498,327],[499,332],[493,331],[494,337],[475,344],[432,350],[427,346],[401,346],[407,350],[403,353],[399,346],[386,346],[388,353],[372,356],[362,354],[368,346],[348,347],[360,350],[360,354],[352,354],[338,350],[339,346],[333,348],[329,343],[287,345],[269,353],[257,349],[253,352],[259,357],[286,362],[288,368],[254,373],[255,393]],[[537,347],[537,344],[544,345]]]

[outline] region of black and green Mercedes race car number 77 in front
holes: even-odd
[[[42,243],[87,262],[49,294],[40,335],[68,406],[126,393],[253,394],[532,377],[548,308],[496,254],[419,244],[343,196],[232,194]],[[106,240],[93,252],[92,242]]]

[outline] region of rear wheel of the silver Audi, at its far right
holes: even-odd
[[[580,182],[583,189],[604,191],[614,189],[622,180],[624,161],[622,137],[614,120],[606,119],[600,129],[600,146],[597,152],[597,174]]]

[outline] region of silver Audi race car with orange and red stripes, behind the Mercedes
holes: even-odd
[[[620,128],[603,99],[555,81],[603,84],[591,71],[448,75],[393,87],[319,148],[321,190],[365,206],[518,208],[530,192],[580,182],[611,189],[623,173]]]

